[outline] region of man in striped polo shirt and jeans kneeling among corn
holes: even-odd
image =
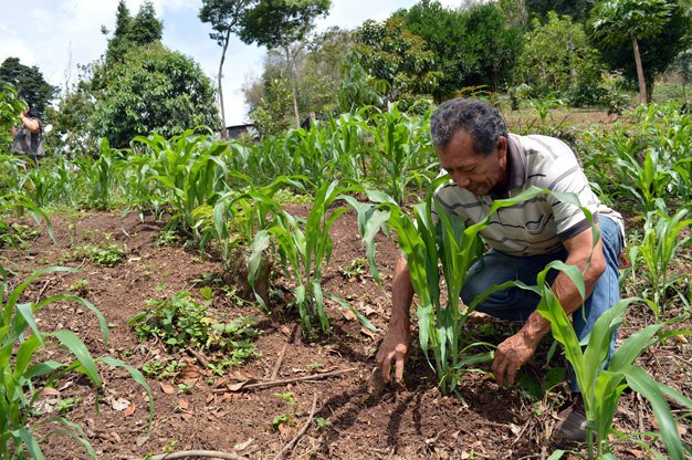
[[[470,304],[489,288],[510,280],[535,284],[537,274],[549,262],[564,261],[584,273],[586,301],[566,274],[552,271],[548,280],[565,312],[573,314],[579,339],[587,336],[596,320],[619,300],[618,259],[625,232],[621,216],[598,200],[574,151],[553,137],[507,133],[502,115],[474,100],[442,104],[432,115],[431,133],[440,166],[452,179],[436,191],[436,199],[447,212],[465,219],[466,226],[482,220],[493,200],[516,196],[532,186],[573,192],[593,212],[594,224],[600,230],[596,243],[584,212],[552,195],[495,212],[491,224],[481,231],[491,249],[471,268],[461,292],[462,301]],[[403,255],[397,262],[391,291],[389,330],[377,363],[386,383],[391,380],[394,366],[394,384],[401,385],[411,345],[413,297]],[[495,291],[476,306],[502,320],[524,322],[520,332],[497,345],[492,372],[501,386],[505,381],[514,384],[517,370],[551,331],[551,323],[535,311],[538,301],[534,292],[512,288]],[[615,336],[609,356],[614,351]],[[572,390],[579,393],[574,378]],[[557,436],[583,441],[585,417],[578,396],[564,418]]]

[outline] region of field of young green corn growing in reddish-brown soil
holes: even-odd
[[[610,123],[505,115],[575,147],[626,218],[630,263],[585,348],[551,290],[524,286],[555,341],[511,388],[490,359],[518,325],[447,295],[483,223],[431,226],[445,179],[429,113],[368,108],[259,144],[104,140],[35,168],[0,156],[0,458],[692,457],[692,117],[675,103]],[[399,251],[418,338],[407,387],[374,394]],[[572,450],[549,439],[567,362],[590,428]]]

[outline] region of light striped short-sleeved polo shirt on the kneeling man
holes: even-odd
[[[562,140],[510,134],[507,167],[507,187],[500,196],[476,196],[450,181],[436,190],[436,198],[443,209],[464,218],[466,226],[471,226],[487,215],[493,199],[511,198],[531,186],[573,192],[596,221],[597,215],[607,216],[625,232],[622,217],[599,201],[576,155]],[[559,251],[563,241],[588,228],[589,222],[579,208],[560,202],[552,195],[538,195],[493,213],[490,224],[480,234],[491,248],[507,254],[536,255]]]

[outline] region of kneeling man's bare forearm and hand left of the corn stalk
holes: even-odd
[[[403,386],[403,365],[411,347],[411,301],[413,284],[403,254],[399,257],[391,280],[391,315],[389,330],[377,352],[377,367],[385,383],[389,383],[395,365],[394,384]]]

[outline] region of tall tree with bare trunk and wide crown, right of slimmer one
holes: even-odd
[[[241,19],[240,39],[244,43],[256,43],[284,53],[290,65],[296,126],[301,125],[296,59],[304,39],[314,28],[314,20],[325,15],[331,6],[331,0],[259,0],[245,9]]]

